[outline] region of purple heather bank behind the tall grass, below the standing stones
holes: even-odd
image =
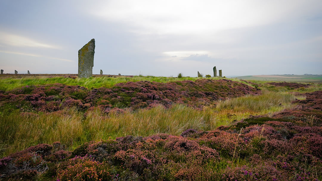
[[[0,93],[0,105],[11,106],[11,109],[20,109],[21,112],[53,112],[74,106],[80,110],[98,107],[105,113],[122,113],[123,108],[150,108],[158,104],[170,107],[175,103],[184,103],[202,108],[214,100],[247,94],[258,95],[260,90],[227,79],[169,83],[139,81],[92,90],[57,83],[25,86]]]

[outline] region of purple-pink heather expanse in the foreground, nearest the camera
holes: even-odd
[[[291,110],[320,110],[315,104],[321,94],[306,94]],[[293,116],[257,115],[210,131],[89,141],[71,151],[60,142],[42,143],[2,158],[1,175],[4,180],[321,180],[321,115],[314,114],[313,122]]]

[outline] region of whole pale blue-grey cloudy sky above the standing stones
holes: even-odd
[[[321,0],[1,0],[4,73],[322,74]],[[218,73],[217,73],[218,74]]]

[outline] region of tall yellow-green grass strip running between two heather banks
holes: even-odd
[[[84,113],[76,108],[52,113],[1,113],[0,152],[8,155],[38,143],[54,141],[74,149],[90,140],[126,135],[179,135],[190,128],[209,131],[249,115],[272,114],[290,108],[294,99],[290,93],[263,91],[262,95],[218,101],[215,108],[204,107],[201,111],[175,104],[169,109],[160,105],[149,110],[126,110],[109,115],[99,109]]]

